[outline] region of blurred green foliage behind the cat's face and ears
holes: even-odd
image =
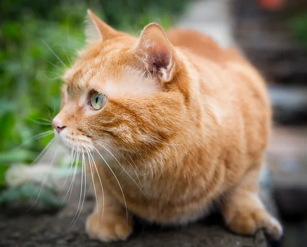
[[[59,110],[60,76],[84,45],[86,9],[109,25],[137,34],[151,21],[171,25],[188,0],[79,0],[0,3],[0,173],[6,165],[32,162],[51,140]],[[50,48],[49,48],[50,47]],[[52,52],[52,51],[53,52]],[[38,124],[41,123],[41,124]],[[29,140],[27,142],[27,140]],[[21,143],[24,143],[20,146]],[[16,148],[17,147],[17,148]],[[0,174],[0,179],[3,175]],[[1,186],[1,182],[0,182]]]

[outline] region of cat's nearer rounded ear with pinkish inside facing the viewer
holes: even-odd
[[[159,73],[165,82],[172,79],[175,68],[172,48],[158,23],[151,23],[144,28],[136,52],[151,73]]]

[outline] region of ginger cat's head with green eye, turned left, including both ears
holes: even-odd
[[[87,47],[64,74],[62,142],[83,151],[116,150],[144,156],[182,141],[187,127],[180,62],[159,24],[139,39],[107,26],[89,11]]]

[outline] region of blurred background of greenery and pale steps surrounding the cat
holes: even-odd
[[[52,139],[50,123],[59,110],[60,76],[74,60],[76,50],[84,46],[87,8],[114,28],[135,35],[151,21],[159,21],[165,29],[181,26],[199,30],[222,46],[238,46],[256,65],[268,81],[274,108],[267,155],[271,172],[263,179],[270,181],[267,184],[271,184],[276,208],[286,226],[281,246],[305,246],[305,0],[2,0],[0,207],[7,201],[31,197],[27,190],[33,187],[12,190],[6,173],[15,164],[35,161]],[[50,196],[46,195],[47,204],[57,205]]]

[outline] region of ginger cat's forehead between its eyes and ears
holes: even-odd
[[[73,66],[65,73],[64,79],[80,92],[97,91],[109,98],[149,97],[161,90],[157,79],[135,66],[94,60]]]

